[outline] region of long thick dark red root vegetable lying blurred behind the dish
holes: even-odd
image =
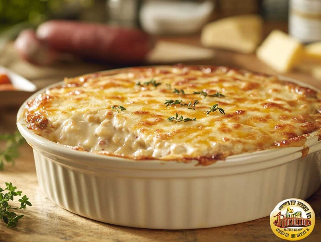
[[[37,38],[56,51],[116,63],[142,62],[154,44],[139,30],[58,20],[41,24]]]

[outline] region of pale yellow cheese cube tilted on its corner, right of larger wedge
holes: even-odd
[[[273,30],[256,50],[257,57],[274,70],[285,73],[302,59],[302,44],[280,30]]]

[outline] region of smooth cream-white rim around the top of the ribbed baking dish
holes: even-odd
[[[208,67],[206,65],[197,65],[197,66]],[[148,67],[173,67],[173,66],[160,65],[160,66],[143,66],[143,67],[148,68]],[[132,67],[110,69],[110,70],[104,70],[104,71],[93,72],[93,73],[100,73],[100,72],[118,73],[118,71],[121,71],[123,69],[129,69],[129,68],[132,68]],[[250,72],[253,72],[253,71],[250,71]],[[84,75],[90,75],[90,74],[91,73],[84,74]],[[318,88],[312,85],[306,84],[304,82],[301,82],[299,80],[286,77],[286,76],[281,76],[281,75],[274,75],[274,76],[277,76],[282,81],[290,81],[295,84],[308,87],[310,89],[316,90],[317,92],[321,93],[321,90],[319,90]],[[180,169],[180,170],[181,169],[208,169],[208,168],[217,168],[217,167],[224,167],[224,166],[240,166],[240,165],[264,162],[266,160],[271,160],[272,158],[279,158],[282,156],[295,154],[297,152],[301,152],[302,149],[305,147],[311,148],[317,143],[321,143],[321,141],[319,142],[317,138],[317,131],[314,131],[307,137],[307,141],[305,145],[301,147],[272,147],[264,150],[231,155],[226,157],[225,160],[217,160],[213,164],[207,165],[207,166],[195,166],[198,164],[196,160],[192,160],[188,163],[180,162],[177,160],[161,160],[161,159],[135,160],[135,159],[119,157],[119,156],[103,155],[103,154],[96,154],[96,153],[91,153],[86,151],[74,150],[62,144],[57,144],[56,142],[46,139],[45,137],[39,136],[35,134],[32,130],[29,130],[27,128],[27,123],[24,121],[23,115],[22,115],[23,109],[27,102],[35,98],[37,95],[44,93],[47,89],[61,85],[61,84],[64,84],[64,81],[60,81],[52,85],[49,85],[47,87],[44,87],[38,90],[36,93],[32,94],[19,108],[19,111],[17,113],[17,127],[20,133],[22,134],[22,136],[27,140],[28,144],[32,148],[37,147],[42,150],[45,150],[48,153],[54,154],[56,156],[68,158],[69,161],[72,161],[73,163],[82,163],[82,164],[88,165],[88,160],[90,160],[91,166],[105,166],[105,167],[121,166],[123,168],[140,167],[142,169],[150,169],[150,168],[154,168],[155,165],[166,164],[166,166],[161,166],[161,168],[162,169]],[[310,152],[308,154],[310,154]]]

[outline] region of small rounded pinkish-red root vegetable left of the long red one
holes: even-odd
[[[49,65],[57,58],[55,50],[37,39],[35,31],[26,29],[15,40],[15,47],[21,57],[35,65]]]

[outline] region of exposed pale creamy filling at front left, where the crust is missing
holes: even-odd
[[[135,132],[126,128],[126,122],[116,115],[98,111],[73,113],[70,118],[61,118],[52,123],[47,139],[59,144],[81,147],[89,152],[113,153],[125,156],[152,156],[153,148]],[[102,120],[102,121],[101,121]]]

